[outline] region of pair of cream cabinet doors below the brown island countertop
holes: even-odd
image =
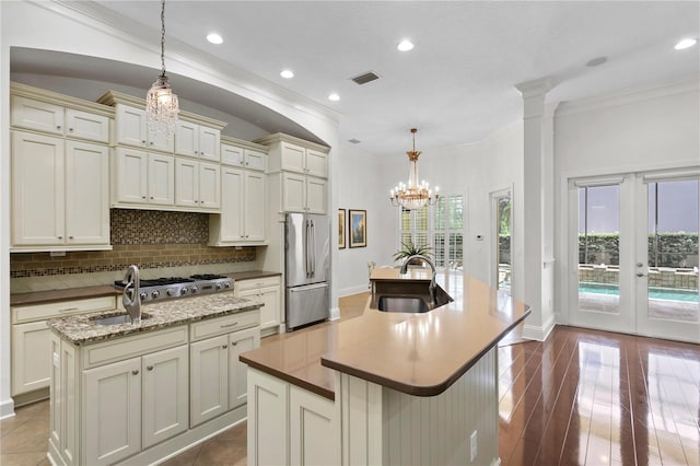
[[[252,368],[248,394],[249,465],[341,464],[334,401]]]

